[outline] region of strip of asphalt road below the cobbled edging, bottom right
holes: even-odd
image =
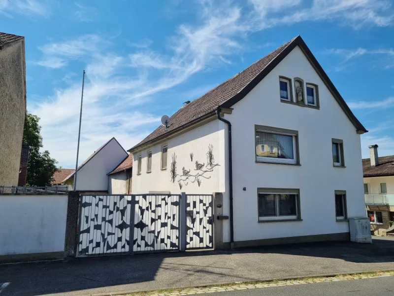
[[[210,293],[209,296],[393,296],[394,277]]]

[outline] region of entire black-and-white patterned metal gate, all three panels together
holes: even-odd
[[[213,220],[213,195],[81,195],[77,256],[213,249]]]

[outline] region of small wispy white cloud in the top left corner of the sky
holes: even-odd
[[[3,0],[0,1],[0,14],[3,14],[9,18],[13,18],[16,14],[49,17],[52,13],[47,1]]]

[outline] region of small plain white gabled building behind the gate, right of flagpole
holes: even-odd
[[[129,153],[115,138],[109,140],[78,167],[76,190],[108,192],[108,172],[111,172],[128,155]],[[63,180],[64,184],[74,184],[74,171]]]

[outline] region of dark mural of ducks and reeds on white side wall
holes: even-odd
[[[193,161],[193,152],[189,154],[191,161]],[[194,174],[191,174],[191,169],[186,169],[184,166],[182,167],[182,174],[178,175],[176,173],[176,155],[175,153],[172,154],[172,161],[171,161],[171,170],[170,170],[170,177],[171,182],[175,183],[175,179],[179,177],[177,180],[179,188],[185,185],[187,186],[189,183],[197,183],[198,187],[202,183],[202,178],[210,179],[209,173],[213,172],[214,168],[219,166],[220,164],[215,163],[215,156],[213,154],[213,145],[209,144],[208,152],[206,153],[206,164],[205,162],[200,163],[198,160],[195,162],[196,166],[193,169]],[[208,175],[208,176],[207,176]]]

